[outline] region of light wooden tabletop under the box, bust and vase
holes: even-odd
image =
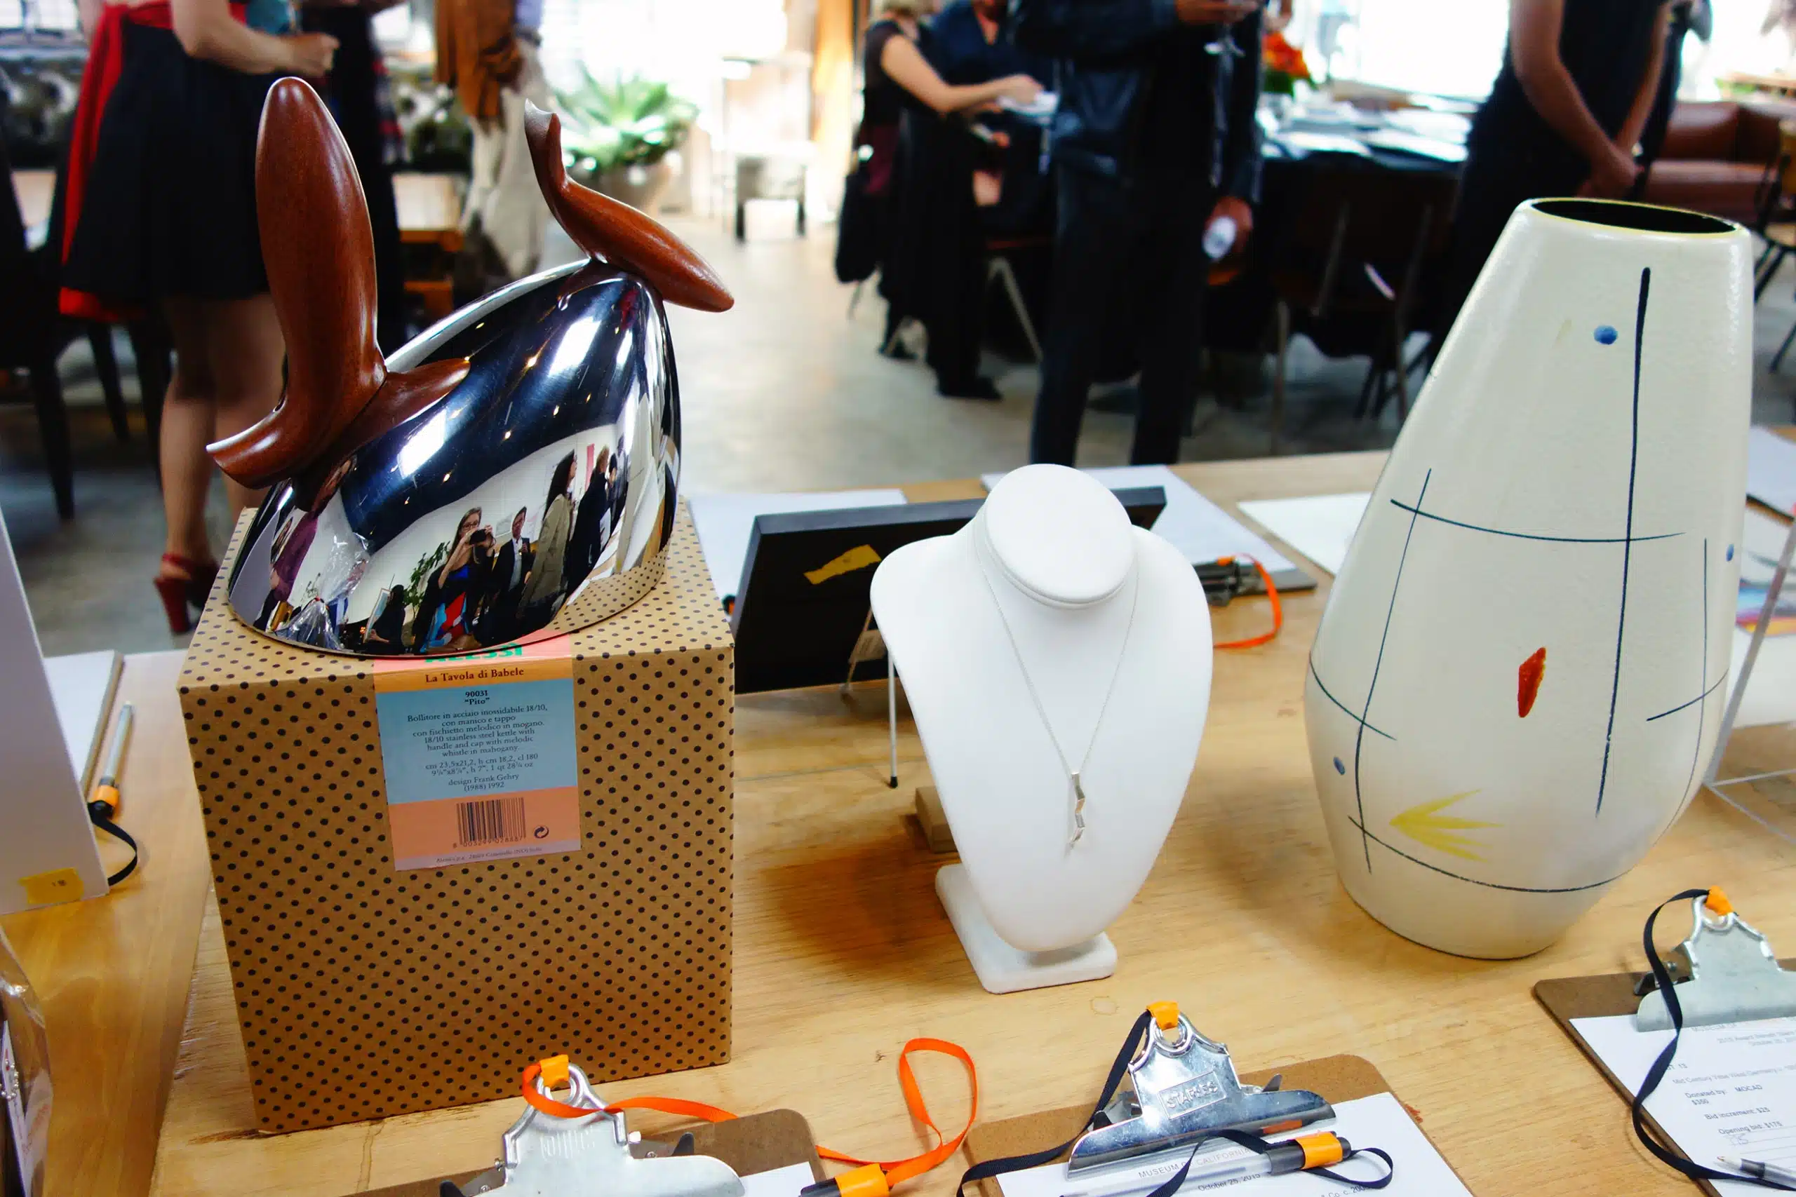
[[[1379,463],[1381,454],[1342,454],[1180,474],[1228,506],[1367,490]],[[930,483],[907,494],[979,492]],[[846,698],[833,689],[742,698],[735,1059],[602,1093],[659,1093],[744,1113],[785,1105],[832,1147],[911,1154],[921,1138],[894,1075],[905,1039],[941,1035],[970,1048],[981,1118],[1004,1118],[1090,1100],[1133,1012],[1176,998],[1202,1030],[1230,1044],[1243,1071],[1365,1055],[1480,1197],[1692,1193],[1638,1149],[1624,1104],[1536,1007],[1530,987],[1541,976],[1638,967],[1647,908],[1686,885],[1726,887],[1774,942],[1796,951],[1789,843],[1704,793],[1638,869],[1534,958],[1460,960],[1385,931],[1334,878],[1309,779],[1302,677],[1324,594],[1290,596],[1286,632],[1270,646],[1219,653],[1184,811],[1140,896],[1110,930],[1117,973],[1061,989],[979,989],[936,901],[943,860],[907,822],[911,793],[927,781],[909,723],[902,786],[885,788],[882,687]],[[1245,635],[1264,619],[1263,599],[1237,601],[1218,612],[1218,637]],[[120,691],[140,712],[124,818],[149,843],[144,876],[97,903],[5,921],[45,991],[59,1077],[77,1077],[57,1091],[50,1192],[136,1197],[153,1145],[151,1192],[183,1197],[336,1197],[487,1166],[517,1100],[287,1136],[255,1131],[176,668],[172,653],[135,657]],[[1782,817],[1774,804],[1765,809]],[[938,1120],[957,1123],[966,1109],[957,1066],[921,1057],[918,1073]],[[912,1192],[943,1197],[957,1172],[939,1168]]]

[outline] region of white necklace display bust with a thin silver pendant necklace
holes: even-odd
[[[1191,564],[1101,483],[1033,465],[961,531],[885,558],[873,614],[961,852],[936,888],[981,983],[1108,976],[1103,931],[1203,738],[1211,614]]]

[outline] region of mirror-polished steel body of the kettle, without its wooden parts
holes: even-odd
[[[356,655],[463,653],[612,616],[661,578],[679,483],[666,316],[589,258],[512,284],[393,355],[467,377],[336,465],[280,483],[250,526],[232,608]]]

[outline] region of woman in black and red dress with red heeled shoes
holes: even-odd
[[[217,574],[207,445],[266,416],[282,388],[255,214],[262,99],[280,75],[323,75],[336,39],[253,31],[228,0],[81,9],[90,57],[70,144],[63,310],[160,309],[174,334],[156,590],[169,630],[185,632]],[[257,499],[230,479],[224,490],[232,508]]]

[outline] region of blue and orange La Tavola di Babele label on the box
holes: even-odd
[[[566,635],[471,657],[377,660],[393,867],[580,847]]]

